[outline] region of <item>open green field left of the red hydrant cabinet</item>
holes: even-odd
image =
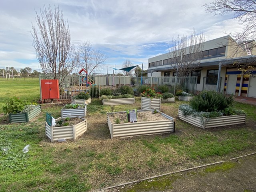
[[[16,96],[22,100],[36,102],[40,99],[38,78],[0,78],[0,112],[8,98]]]

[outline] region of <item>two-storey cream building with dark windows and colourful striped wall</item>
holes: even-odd
[[[256,68],[251,67],[256,65],[256,48],[252,42],[238,44],[230,36],[204,42],[200,64],[190,74],[197,76],[196,90],[219,90],[226,94],[256,97],[256,77],[253,75]],[[170,55],[149,58],[148,76],[176,76]],[[248,67],[241,70],[244,65]]]

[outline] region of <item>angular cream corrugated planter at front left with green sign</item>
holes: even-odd
[[[60,118],[56,119],[56,121]],[[52,127],[45,122],[45,134],[51,140],[51,142],[57,141],[58,139],[76,139],[78,136],[84,134],[87,131],[87,121],[86,119],[82,122],[62,127]]]

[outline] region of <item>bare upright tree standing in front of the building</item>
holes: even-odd
[[[193,29],[191,36],[175,35],[169,45],[169,62],[177,76],[189,76],[195,71],[202,58],[205,38],[202,33],[196,34]]]

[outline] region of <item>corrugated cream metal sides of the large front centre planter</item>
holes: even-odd
[[[154,110],[137,110],[137,112],[143,111],[153,112]],[[157,112],[160,113],[162,116],[166,117],[166,120],[113,124],[109,118],[109,115],[112,115],[112,113],[107,113],[108,128],[111,138],[175,132],[175,119],[160,112],[159,110],[157,110]]]

